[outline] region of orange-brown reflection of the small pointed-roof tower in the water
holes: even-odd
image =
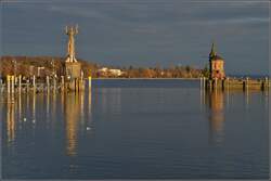
[[[224,113],[223,113],[223,92],[222,91],[214,91],[209,92],[209,126],[210,126],[210,138],[216,142],[222,141],[223,133],[223,121],[224,121]]]

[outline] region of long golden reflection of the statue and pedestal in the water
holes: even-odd
[[[76,155],[78,139],[78,124],[80,116],[80,104],[78,94],[66,94],[65,98],[65,121],[66,121],[66,151],[69,156]]]

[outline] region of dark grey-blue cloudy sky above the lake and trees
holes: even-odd
[[[76,56],[101,65],[203,68],[215,42],[230,75],[269,72],[269,1],[5,0],[1,54]]]

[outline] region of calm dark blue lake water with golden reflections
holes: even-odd
[[[1,94],[4,179],[268,179],[268,92],[197,80],[93,80]]]

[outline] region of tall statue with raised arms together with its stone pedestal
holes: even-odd
[[[65,60],[66,87],[72,91],[83,89],[81,64],[75,57],[75,36],[78,34],[78,26],[66,26],[65,33],[68,36],[67,55]]]

